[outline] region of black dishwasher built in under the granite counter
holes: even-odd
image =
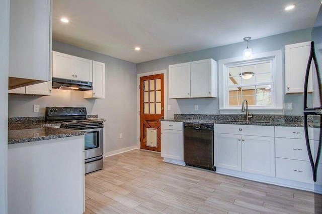
[[[188,166],[215,170],[213,124],[184,123],[184,161]]]

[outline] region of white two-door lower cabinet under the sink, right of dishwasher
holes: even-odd
[[[240,134],[229,134],[238,125],[230,128],[221,124],[215,124],[215,146],[214,154],[216,167],[255,173],[260,175],[275,176],[275,143],[274,127],[269,127],[267,136],[251,136]],[[256,135],[257,129],[265,129],[265,126],[240,126],[236,129],[243,133]],[[253,131],[251,131],[253,128]],[[273,129],[272,129],[273,128]],[[216,133],[216,131],[226,133]],[[252,133],[253,132],[253,133]]]

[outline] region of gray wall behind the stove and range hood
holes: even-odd
[[[51,96],[9,95],[9,117],[44,116],[46,106],[86,107],[105,123],[105,152],[134,146],[136,130],[136,67],[134,63],[53,41],[53,51],[105,63],[105,98],[84,99],[82,91],[53,89]],[[33,105],[40,112],[33,112]],[[123,138],[119,139],[119,133]]]

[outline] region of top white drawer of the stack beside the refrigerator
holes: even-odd
[[[313,128],[308,128],[308,136],[313,139]],[[305,139],[304,127],[275,127],[275,137]]]

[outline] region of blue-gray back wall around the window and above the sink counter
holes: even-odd
[[[257,40],[251,40],[249,42],[249,47],[252,48],[253,54],[263,53],[268,51],[275,51],[275,50],[282,50],[283,76],[285,76],[284,46],[288,44],[306,42],[306,41],[309,41],[310,38],[311,38],[311,29],[303,29],[299,31],[265,37]],[[241,42],[241,43],[236,43],[232,45],[226,45],[226,46],[166,57],[162,59],[139,63],[136,65],[136,71],[137,73],[145,73],[145,72],[158,71],[163,69],[168,70],[169,65],[209,59],[209,58],[212,58],[218,62],[218,60],[221,60],[221,59],[243,56],[243,51],[245,48],[246,48],[246,43]],[[285,110],[284,111],[285,115],[302,114],[302,108],[303,108],[302,96],[303,96],[302,94],[284,95],[284,102],[293,103],[293,110]],[[168,92],[168,97],[169,97],[169,92]],[[219,114],[218,98],[168,99],[168,105],[171,105],[171,110],[168,111],[168,118],[173,118],[173,115],[177,113],[178,114],[179,113]],[[199,105],[198,111],[194,110],[195,105]]]

